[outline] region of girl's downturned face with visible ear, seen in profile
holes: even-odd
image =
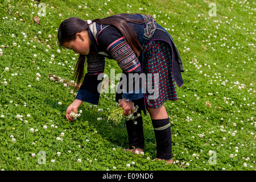
[[[75,53],[79,53],[81,55],[88,55],[91,45],[92,42],[90,41],[88,31],[77,33],[75,40],[63,43],[63,47],[72,49]]]

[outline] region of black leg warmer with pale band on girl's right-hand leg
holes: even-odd
[[[172,135],[169,118],[152,119],[156,139],[156,158],[172,159]]]

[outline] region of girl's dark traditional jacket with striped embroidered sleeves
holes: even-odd
[[[170,51],[172,51],[172,74],[176,85],[181,87],[183,85],[181,77],[181,72],[184,72],[183,63],[171,35],[156,23],[151,16],[138,14],[133,15],[133,18],[147,20],[143,24],[129,23],[142,47],[146,46],[148,41],[151,40],[162,40],[170,45]],[[111,25],[102,25],[94,22],[89,25],[88,33],[92,46],[90,47],[89,55],[86,55],[87,73],[76,99],[97,105],[100,98],[105,57],[117,61],[128,80],[129,73],[138,73],[138,75],[143,73],[143,51],[140,51],[140,56],[136,56],[121,32]],[[130,82],[129,84],[133,83]],[[128,90],[129,85],[126,87]],[[130,100],[143,98],[142,86],[140,85],[137,90],[135,88],[131,90],[132,92],[123,89],[121,94],[117,93],[116,101],[122,97]]]

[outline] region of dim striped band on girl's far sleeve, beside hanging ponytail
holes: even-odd
[[[87,57],[87,72],[88,75],[99,75],[104,72],[105,57],[100,54],[90,54]]]

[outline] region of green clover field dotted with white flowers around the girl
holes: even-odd
[[[255,171],[255,1],[0,2],[0,169]],[[179,49],[184,85],[176,86],[179,100],[164,104],[174,164],[152,161],[148,114],[144,155],[123,151],[124,122],[106,122],[117,108],[113,93],[102,93],[97,106],[84,102],[76,121],[65,118],[78,91],[72,79],[79,55],[59,47],[59,24],[118,13],[154,16]],[[105,65],[107,75],[121,73],[114,60]]]

